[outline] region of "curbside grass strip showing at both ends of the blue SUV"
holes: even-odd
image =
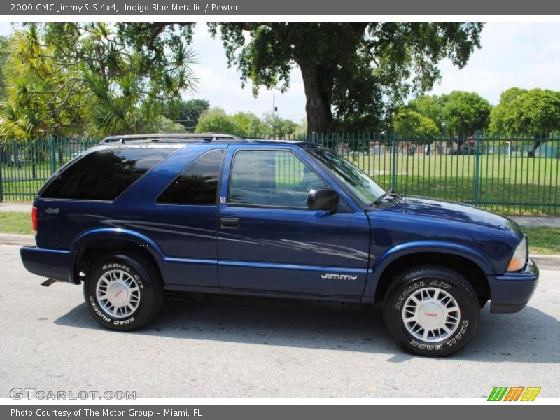
[[[532,254],[560,254],[560,228],[523,228],[529,237]],[[0,233],[31,234],[31,216],[27,213],[0,213]]]

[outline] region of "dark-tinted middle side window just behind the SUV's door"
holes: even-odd
[[[224,152],[214,149],[197,158],[163,190],[158,203],[216,204]]]

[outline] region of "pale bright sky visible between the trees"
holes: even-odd
[[[0,35],[11,30],[9,23],[0,23]],[[472,53],[463,69],[449,60],[440,63],[442,80],[429,93],[468,90],[497,104],[501,92],[513,86],[560,90],[559,40],[560,23],[489,23],[482,31],[482,48]],[[255,98],[251,86],[241,88],[237,70],[228,69],[221,41],[211,38],[205,24],[197,24],[191,46],[200,62],[193,66],[199,84],[197,92],[186,95],[186,99],[208,99],[211,106],[227,113],[250,111],[262,116],[272,111],[274,95],[279,116],[296,123],[305,118],[299,69],[291,72],[288,92],[261,88]]]

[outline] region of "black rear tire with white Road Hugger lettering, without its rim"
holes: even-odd
[[[138,283],[140,289],[139,305],[130,316],[114,318],[102,309],[97,300],[97,283],[99,279],[114,269],[121,269],[130,274]],[[97,262],[84,283],[84,298],[87,309],[94,319],[106,328],[112,330],[133,330],[148,322],[155,307],[154,280],[139,262],[127,255],[115,255]]]

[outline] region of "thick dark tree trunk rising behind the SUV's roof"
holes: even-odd
[[[307,112],[307,132],[327,132],[332,123],[330,109],[330,78],[327,72],[308,58],[297,59],[302,71],[305,88],[305,111]]]

